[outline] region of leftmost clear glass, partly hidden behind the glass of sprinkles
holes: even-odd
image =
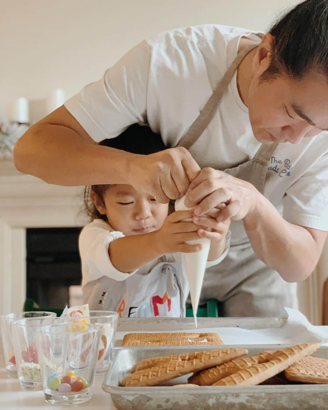
[[[55,317],[53,312],[23,312],[0,314],[0,329],[2,338],[3,355],[5,358],[7,376],[17,378],[16,358],[14,353],[11,322],[24,317]]]

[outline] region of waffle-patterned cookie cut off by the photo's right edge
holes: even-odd
[[[328,384],[328,359],[308,356],[285,370],[288,380]]]

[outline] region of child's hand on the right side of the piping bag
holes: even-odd
[[[211,212],[212,211],[212,212]],[[198,235],[200,238],[210,239],[212,242],[221,242],[228,233],[230,226],[230,219],[226,219],[223,222],[216,221],[216,216],[220,213],[217,209],[211,210],[204,216],[193,216],[193,222],[195,225],[206,226],[206,228],[212,228],[212,231],[207,231],[206,228],[198,227]]]

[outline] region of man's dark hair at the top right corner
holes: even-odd
[[[328,76],[328,0],[298,4],[269,33],[275,38],[274,49],[260,81],[281,73],[301,80],[312,69]]]

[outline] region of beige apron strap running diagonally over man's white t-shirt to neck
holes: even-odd
[[[200,112],[199,116],[196,120],[191,124],[187,134],[182,137],[179,141],[178,147],[185,147],[189,149],[194,143],[198,140],[201,134],[203,134],[205,128],[210,124],[212,118],[214,117],[219,102],[225,93],[230,81],[232,80],[235,72],[241,63],[241,61],[246,57],[246,55],[251,52],[255,47],[258,46],[258,43],[251,44],[250,46],[245,47],[237,57],[232,62],[231,66],[226,71],[225,75],[223,75],[221,81],[216,86],[215,90],[212,93],[212,96],[205,104],[205,107]]]

